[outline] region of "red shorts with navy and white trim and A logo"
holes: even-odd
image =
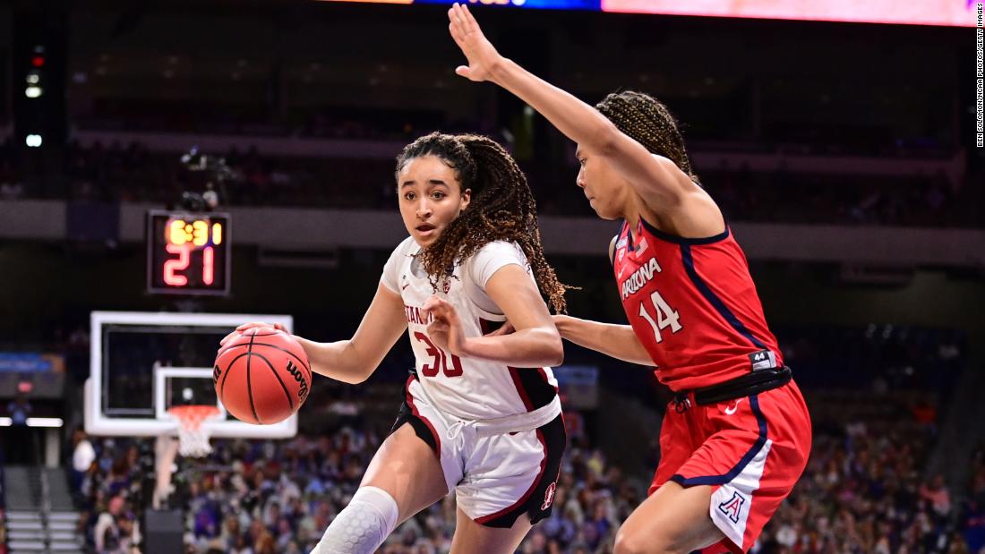
[[[649,494],[668,480],[711,485],[708,512],[726,539],[705,554],[749,550],[790,494],[811,452],[811,415],[793,381],[738,400],[668,405]],[[683,405],[682,405],[683,407]]]

